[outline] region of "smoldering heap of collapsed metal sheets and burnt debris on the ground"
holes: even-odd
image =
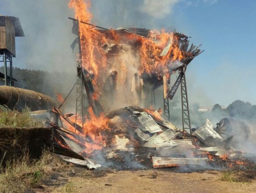
[[[233,165],[245,167],[254,163],[256,157],[236,149],[227,120],[222,120],[217,128],[207,120],[189,134],[151,109],[125,107],[111,111],[105,118],[108,129],[98,130],[97,134],[101,141],[97,136],[56,126],[54,142],[48,144],[63,160],[89,169],[150,168],[152,163],[154,168],[223,169]],[[230,136],[223,138],[223,131],[229,131]]]

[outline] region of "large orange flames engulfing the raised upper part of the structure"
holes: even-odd
[[[75,11],[75,18],[87,23],[90,23],[93,17],[89,11],[90,5],[90,0],[70,0],[69,2],[69,8],[73,8]],[[113,43],[114,41],[116,44],[131,45],[134,49],[134,57],[138,54],[140,58],[140,64],[137,66],[139,75],[142,75],[142,73],[158,73],[169,77],[169,66],[172,62],[186,58],[186,54],[179,49],[179,44],[177,43],[180,41],[179,37],[172,32],[154,31],[154,33],[158,34],[157,37],[149,34],[148,38],[145,38],[133,33],[118,33],[112,29],[100,31],[84,23],[80,23],[79,27],[82,66],[94,74],[96,82],[100,80],[104,82],[106,72],[112,68],[108,64],[107,56],[103,50],[105,43]],[[169,51],[165,56],[160,56],[169,40],[172,40]],[[120,61],[122,70],[118,76],[121,85],[125,82],[127,76],[125,74],[127,73],[126,66],[128,65],[130,66],[131,64],[125,65],[123,61]],[[95,84],[95,82],[93,83]],[[99,92],[101,92],[102,85],[97,84],[97,86],[99,87]]]

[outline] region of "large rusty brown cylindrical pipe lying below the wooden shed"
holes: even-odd
[[[5,104],[8,108],[18,111],[25,107],[29,107],[31,111],[52,109],[54,107],[51,97],[13,86],[0,86],[0,104]]]

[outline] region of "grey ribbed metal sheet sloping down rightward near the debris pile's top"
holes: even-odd
[[[146,112],[143,112],[137,119],[144,126],[144,131],[150,133],[162,132],[162,129],[158,126],[155,120]]]

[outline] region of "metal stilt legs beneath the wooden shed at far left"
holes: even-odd
[[[14,86],[14,82],[12,81],[12,54],[10,52],[1,52],[0,53],[0,62],[4,63],[4,74],[5,74],[5,85]],[[8,73],[7,73],[7,62],[10,64],[10,74],[9,74],[9,81],[8,81]]]

